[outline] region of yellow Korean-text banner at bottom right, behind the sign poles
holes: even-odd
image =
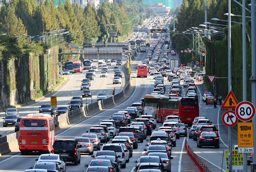
[[[228,150],[225,150],[225,160],[227,171],[229,171],[229,156]],[[238,150],[232,150],[232,168],[233,171],[243,171],[243,154],[238,153]]]

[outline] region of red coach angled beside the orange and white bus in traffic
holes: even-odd
[[[182,123],[192,125],[199,117],[198,99],[163,96],[158,103],[158,122],[163,123],[168,115],[178,115]]]

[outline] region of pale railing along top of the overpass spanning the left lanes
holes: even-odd
[[[123,54],[123,50],[122,49],[111,49],[111,50],[107,50],[107,49],[98,49],[98,50],[63,50],[61,54],[96,54],[96,53],[108,53],[108,54]]]

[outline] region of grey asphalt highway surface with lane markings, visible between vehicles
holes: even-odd
[[[156,39],[153,39],[150,44],[153,44],[156,41]],[[147,48],[147,51],[149,48]],[[147,52],[146,51],[146,52]],[[76,123],[71,124],[67,126],[66,128],[61,128],[60,130],[56,131],[56,139],[73,139],[74,137],[79,137],[85,131],[87,131],[90,127],[93,125],[98,125],[101,120],[103,119],[109,119],[110,116],[112,116],[113,113],[118,112],[119,110],[124,110],[125,108],[129,107],[132,103],[138,102],[141,100],[141,98],[144,98],[145,94],[150,94],[151,91],[154,88],[154,80],[152,76],[148,76],[147,78],[137,78],[136,77],[136,64],[140,64],[142,60],[145,59],[147,53],[140,53],[138,57],[132,62],[132,80],[131,85],[132,89],[129,94],[129,96],[124,99],[123,101],[120,101],[118,104],[115,104],[112,107],[109,107],[107,109],[102,110],[101,112],[92,114],[92,116],[80,119],[79,121],[76,121]],[[169,58],[172,58],[169,56]],[[176,58],[173,57],[173,58]],[[64,84],[59,88],[59,92],[56,91],[54,94],[58,96],[58,101],[61,101],[59,103],[67,104],[67,100],[70,100],[70,98],[73,96],[71,94],[77,92],[75,95],[80,95],[81,91],[79,90],[79,84],[81,79],[83,79],[83,76],[79,76],[80,74],[74,74],[73,78],[69,81],[69,83]],[[71,76],[72,77],[72,76]],[[96,82],[94,80],[94,82]],[[100,84],[98,84],[100,83]],[[168,94],[170,91],[169,82],[166,81],[165,78],[165,85],[166,85],[166,92],[165,94]],[[197,83],[197,82],[196,82]],[[183,82],[181,82],[181,85]],[[99,92],[107,92],[107,94],[112,94],[112,90],[108,87],[111,86],[111,82],[109,84],[109,78],[98,78],[98,81],[93,88],[97,94]],[[103,87],[105,85],[105,87]],[[109,85],[109,86],[108,86]],[[202,95],[205,90],[205,87],[201,83],[197,83],[198,86],[198,95]],[[103,87],[103,88],[102,88]],[[75,90],[77,89],[77,90]],[[121,89],[121,88],[120,88]],[[116,91],[118,93],[119,91]],[[185,95],[185,88],[182,88],[182,96]],[[66,100],[66,102],[64,102]],[[33,107],[27,107],[24,108],[24,115],[26,113],[31,112],[38,112],[38,108],[40,104],[46,103],[49,101],[49,99],[45,99],[44,102],[38,103],[33,105]],[[220,148],[197,148],[196,142],[193,141],[193,139],[189,139],[188,137],[180,137],[180,139],[176,140],[176,147],[172,148],[172,157],[171,160],[171,171],[172,172],[180,172],[181,167],[186,167],[186,162],[182,162],[182,155],[184,155],[184,152],[182,153],[181,150],[183,150],[185,139],[188,140],[190,147],[200,155],[203,162],[206,162],[208,164],[211,164],[212,171],[221,171],[221,166],[223,164],[223,171],[226,171],[225,169],[225,162],[222,163],[222,151],[227,149],[228,145],[228,136],[227,136],[227,128],[222,124],[220,116],[222,115],[222,112],[220,110],[220,107],[217,106],[217,109],[213,109],[213,105],[206,105],[202,102],[202,98],[199,96],[199,116],[204,116],[210,119],[213,125],[216,125],[216,127],[219,129],[219,135],[220,135]],[[37,109],[35,109],[37,108]],[[27,110],[30,110],[27,112]],[[22,114],[22,113],[21,113]],[[160,126],[160,124],[157,125],[156,129]],[[235,138],[235,135],[233,135],[233,138]],[[147,136],[147,139],[149,139],[149,136]],[[235,139],[237,140],[237,139]],[[133,168],[135,167],[136,163],[134,163],[134,160],[137,160],[140,156],[144,154],[144,149],[146,148],[145,144],[138,143],[138,149],[133,150],[133,157],[130,158],[130,162],[127,164],[126,168],[122,168],[122,172],[133,172]],[[234,144],[236,144],[234,142]],[[234,145],[233,144],[233,145]],[[94,151],[95,155],[96,151]],[[6,171],[24,171],[25,169],[28,169],[29,167],[33,167],[35,164],[35,159],[38,158],[39,155],[34,153],[31,155],[21,155],[20,152],[17,150],[17,152],[12,152],[9,154],[6,154],[4,156],[0,157],[0,172],[6,172]],[[92,160],[91,155],[88,154],[82,154],[81,155],[81,164],[78,164],[78,166],[75,166],[72,163],[66,164],[66,171],[67,172],[82,172],[85,171],[85,164],[89,164],[89,162]],[[225,158],[224,158],[225,160]],[[186,167],[187,170],[190,169],[190,167]],[[210,169],[211,170],[211,169]]]

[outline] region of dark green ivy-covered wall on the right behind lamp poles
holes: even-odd
[[[228,37],[228,29],[224,32]],[[246,22],[246,81],[247,81],[247,101],[251,101],[251,21]],[[211,41],[206,37],[203,38],[206,45],[206,75],[216,75],[216,77],[228,77],[228,39],[223,38],[222,41]],[[243,101],[243,84],[242,84],[242,24],[235,24],[231,27],[231,85],[232,91],[238,102]],[[206,79],[205,82],[209,80]],[[216,95],[221,94],[222,97],[228,95],[228,79],[215,79]],[[209,84],[211,90],[213,85]]]

